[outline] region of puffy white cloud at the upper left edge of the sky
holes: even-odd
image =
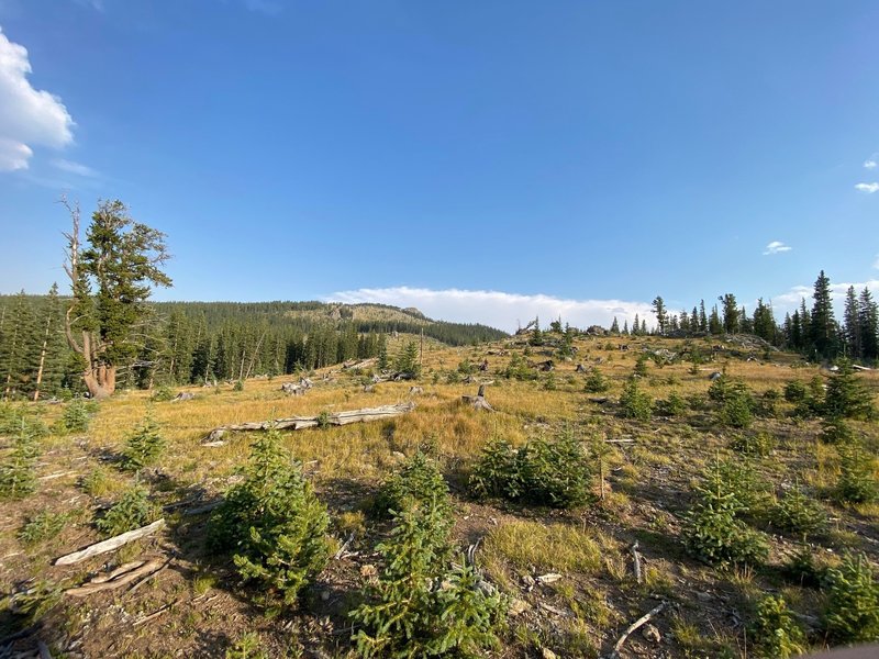
[[[26,169],[31,145],[62,148],[74,139],[74,120],[60,100],[27,81],[27,49],[0,29],[0,171]]]

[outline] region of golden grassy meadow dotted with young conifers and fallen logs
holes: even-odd
[[[391,353],[404,339],[392,343]],[[579,337],[574,346],[576,354],[564,359],[554,348],[528,346],[522,337],[461,348],[425,342],[416,382],[380,382],[371,391],[365,388],[372,375],[369,366],[316,371],[311,375],[314,387],[302,396],[280,390],[285,378],[251,379],[242,390],[227,383],[174,389],[193,393],[188,401],[154,401],[154,392],[122,391],[97,406],[87,429],[74,432],[58,425],[71,403],[22,404],[49,432],[37,439],[35,490],[0,507],[0,591],[5,597],[0,638],[33,629],[0,640],[0,657],[7,656],[4,647],[10,657],[34,650],[35,639],[53,657],[355,657],[347,613],[375,574],[375,546],[389,532],[386,521],[371,515],[371,502],[382,481],[419,450],[435,459],[449,487],[456,544],[461,549],[476,545],[476,565],[509,605],[499,630],[501,647],[486,656],[605,657],[631,623],[661,602],[665,607],[628,637],[621,657],[759,656],[754,621],[766,594],[783,597],[802,629],[804,649],[836,645],[824,624],[827,592],[804,572],[791,576],[791,561],[806,554],[819,568],[832,568],[847,552],[857,552],[879,566],[879,505],[835,495],[839,447],[822,442],[821,417],[795,414],[795,403],[782,393],[793,380],[809,387],[815,377],[827,381],[833,376],[799,356],[724,337]],[[694,350],[702,355],[696,362],[675,358]],[[637,387],[654,403],[654,414],[626,418],[619,401],[644,355],[650,358]],[[524,379],[507,377],[511,360],[520,357],[525,362],[553,359],[555,368],[544,372],[525,366]],[[483,360],[487,371],[472,368]],[[605,391],[586,391],[596,370],[607,380]],[[725,418],[708,395],[713,372],[744,383],[761,409],[746,422]],[[879,372],[859,372],[857,380],[876,401]],[[480,382],[489,382],[486,398],[493,413],[461,402]],[[410,393],[413,384],[423,392]],[[226,424],[409,400],[415,410],[393,420],[283,433],[285,450],[302,462],[329,507],[333,548],[344,551],[302,592],[297,606],[277,612],[255,605],[230,558],[208,547],[209,514],[188,512],[241,481],[258,433],[227,435],[220,446],[205,445],[208,433]],[[120,460],[147,415],[158,425],[165,448],[135,477]],[[876,422],[847,423],[875,456]],[[572,433],[589,456],[589,503],[558,510],[470,494],[470,472],[489,442],[505,439],[521,447],[563,433]],[[0,437],[3,459],[13,451],[12,437]],[[755,438],[766,440],[765,455],[736,449]],[[683,540],[687,512],[704,470],[727,459],[749,466],[753,491],[760,494],[743,513],[768,544],[757,565],[712,566],[688,552]],[[875,462],[871,469],[875,480]],[[135,480],[163,509],[167,526],[116,551],[53,566],[57,557],[101,538],[96,515]],[[785,527],[776,512],[793,489],[806,494],[821,517],[806,537],[795,525]],[[164,567],[142,584],[86,596],[62,592],[145,558],[158,558]],[[538,579],[546,574],[556,577]]]

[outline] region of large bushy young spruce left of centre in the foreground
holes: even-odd
[[[238,574],[266,587],[265,600],[293,604],[330,557],[326,507],[269,431],[253,445],[243,482],[211,515],[213,547],[234,551]]]

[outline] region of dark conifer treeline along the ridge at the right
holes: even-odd
[[[879,311],[868,288],[846,292],[842,322],[836,320],[831,293],[831,280],[821,271],[814,284],[811,306],[805,299],[792,314],[779,323],[772,306],[757,300],[753,314],[739,306],[733,293],[717,298],[710,310],[700,300],[692,311],[669,313],[661,297],[653,301],[656,326],[654,333],[665,336],[700,336],[720,334],[754,334],[771,345],[794,350],[810,359],[834,359],[846,356],[863,362],[879,360]],[[627,322],[620,330],[614,319],[611,332],[647,334],[646,322],[635,315],[633,328]]]

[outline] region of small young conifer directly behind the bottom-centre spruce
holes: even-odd
[[[421,450],[382,483],[376,496],[375,511],[379,516],[387,517],[394,511],[403,510],[409,500],[422,503],[435,501],[444,514],[450,511],[448,485],[436,462]]]

